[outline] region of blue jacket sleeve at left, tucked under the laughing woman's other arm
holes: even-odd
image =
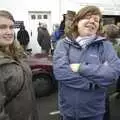
[[[63,40],[58,41],[53,55],[53,72],[56,80],[73,88],[89,89],[92,81],[81,79],[79,73],[72,72],[69,64],[69,45]]]

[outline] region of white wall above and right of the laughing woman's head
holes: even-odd
[[[71,10],[78,11],[83,6],[96,5],[104,15],[120,15],[119,0],[65,0],[65,2],[67,3],[67,9]]]

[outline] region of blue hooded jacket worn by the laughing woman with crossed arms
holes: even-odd
[[[72,72],[72,63],[80,63],[79,72]],[[105,92],[120,75],[120,59],[103,37],[84,49],[75,40],[65,38],[56,46],[53,70],[59,83],[60,113],[90,117],[105,112]]]

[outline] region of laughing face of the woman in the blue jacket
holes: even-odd
[[[99,15],[85,16],[78,22],[78,32],[80,36],[90,36],[96,34],[99,29]]]

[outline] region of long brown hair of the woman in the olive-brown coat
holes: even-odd
[[[15,20],[12,14],[6,10],[0,10],[0,16],[10,19],[15,23]],[[0,51],[7,55],[10,55],[15,59],[19,59],[24,56],[24,50],[22,49],[18,41],[15,39],[13,40],[13,43],[9,45],[9,48],[7,50],[4,46],[0,46]]]

